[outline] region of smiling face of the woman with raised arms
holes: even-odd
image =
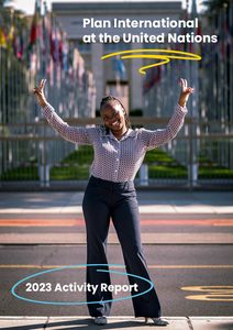
[[[118,101],[111,101],[101,109],[101,118],[107,128],[111,131],[122,131],[125,129],[124,110]]]

